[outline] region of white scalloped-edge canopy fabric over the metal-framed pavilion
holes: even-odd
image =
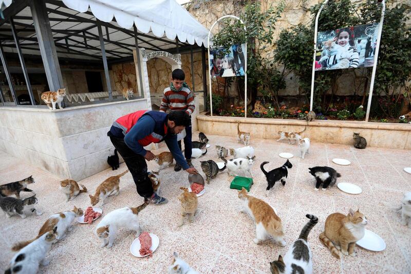
[[[8,1],[8,0],[0,0]],[[11,0],[9,0],[11,1]],[[103,22],[113,21],[130,29],[133,23],[143,33],[150,32],[157,37],[167,36],[181,42],[208,47],[209,31],[175,0],[63,0],[70,9],[79,12],[90,11]]]

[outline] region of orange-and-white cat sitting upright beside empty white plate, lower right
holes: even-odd
[[[354,246],[363,238],[367,223],[367,218],[359,210],[354,212],[350,209],[347,215],[332,213],[325,220],[325,229],[320,233],[320,241],[337,259],[340,259],[338,250],[344,255],[355,257]]]

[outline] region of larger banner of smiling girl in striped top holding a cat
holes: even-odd
[[[315,70],[373,66],[377,38],[378,23],[319,32]]]

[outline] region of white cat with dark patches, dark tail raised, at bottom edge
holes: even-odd
[[[308,234],[318,223],[318,218],[314,215],[305,215],[310,219],[301,230],[298,240],[288,249],[286,255],[278,255],[278,261],[270,262],[271,273],[312,273],[312,252],[308,244]]]

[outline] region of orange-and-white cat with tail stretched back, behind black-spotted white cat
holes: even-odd
[[[36,238],[19,242],[11,248],[12,251],[18,251],[25,246],[29,245],[30,243],[34,242],[35,240],[39,239],[42,235],[47,233],[50,230],[53,230],[57,227],[56,232],[56,240],[60,241],[65,238],[66,230],[71,231],[73,230],[73,221],[77,220],[78,217],[83,215],[83,210],[81,208],[74,207],[71,211],[64,211],[61,213],[56,213],[51,215],[47,221],[43,224],[43,226],[39,230],[39,234]]]

